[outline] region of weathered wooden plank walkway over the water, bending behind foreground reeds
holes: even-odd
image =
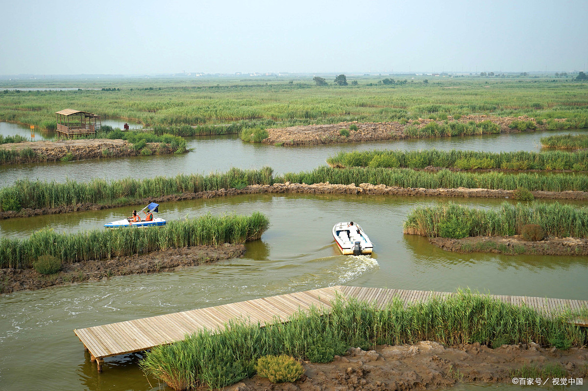
[[[343,299],[356,298],[375,302],[383,307],[397,297],[404,305],[426,302],[434,297],[443,298],[455,295],[449,292],[430,292],[425,290],[360,288],[355,286],[330,286],[308,290],[306,292],[288,293],[230,303],[215,307],[152,316],[151,318],[128,320],[110,325],[94,326],[74,330],[89,350],[91,360],[96,361],[98,370],[102,370],[105,357],[126,353],[141,352],[154,346],[183,340],[187,334],[203,329],[222,328],[230,320],[245,320],[253,324],[265,325],[275,320],[285,321],[298,310],[308,310],[311,306],[330,309],[332,300],[337,296]],[[562,310],[588,308],[587,300],[545,299],[528,296],[488,295],[513,305],[526,305],[545,313],[557,313]],[[581,324],[579,320],[577,324]],[[574,322],[576,323],[576,322]]]

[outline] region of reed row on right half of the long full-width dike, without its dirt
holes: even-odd
[[[425,189],[505,189],[524,188],[529,191],[588,191],[588,176],[554,173],[509,174],[502,172],[452,172],[446,169],[437,172],[415,171],[409,168],[330,168],[322,166],[308,172],[285,173],[275,182],[321,183],[339,185],[371,183],[372,185],[398,186],[400,188]]]

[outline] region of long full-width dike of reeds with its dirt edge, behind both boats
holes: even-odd
[[[274,176],[273,170],[265,167],[260,170],[233,168],[226,173],[206,176],[181,174],[142,180],[92,179],[89,182],[58,183],[24,179],[0,189],[0,218],[114,208],[150,199],[165,202],[263,192],[586,199],[588,176],[323,166],[310,172],[282,176]]]

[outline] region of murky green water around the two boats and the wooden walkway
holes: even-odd
[[[588,257],[458,254],[402,234],[410,208],[430,198],[332,195],[247,195],[162,205],[167,219],[206,212],[268,215],[271,228],[248,243],[242,259],[175,273],[124,276],[103,282],[20,292],[0,298],[0,387],[150,390],[139,355],[106,359],[96,372],[73,333],[122,320],[315,289],[329,285],[586,299]],[[500,200],[460,199],[490,207]],[[75,232],[125,216],[132,207],[0,221],[0,235],[26,237],[51,227]],[[372,259],[339,255],[330,230],[340,220],[361,223],[375,242]],[[30,376],[34,368],[34,376]],[[152,386],[156,386],[152,383]],[[466,388],[470,389],[470,388]],[[509,388],[505,388],[509,389]]]

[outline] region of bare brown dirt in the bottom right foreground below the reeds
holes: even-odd
[[[268,379],[253,376],[229,390],[408,391],[472,382],[512,384],[511,371],[524,364],[560,365],[566,372],[566,379],[584,378],[586,381],[586,360],[586,349],[543,349],[534,343],[503,345],[497,349],[479,343],[446,348],[436,342],[423,341],[412,346],[377,346],[369,352],[359,347],[349,349],[345,356],[335,356],[332,363],[303,363],[305,375],[295,383],[272,384]],[[543,378],[542,382],[552,385],[553,379]]]

